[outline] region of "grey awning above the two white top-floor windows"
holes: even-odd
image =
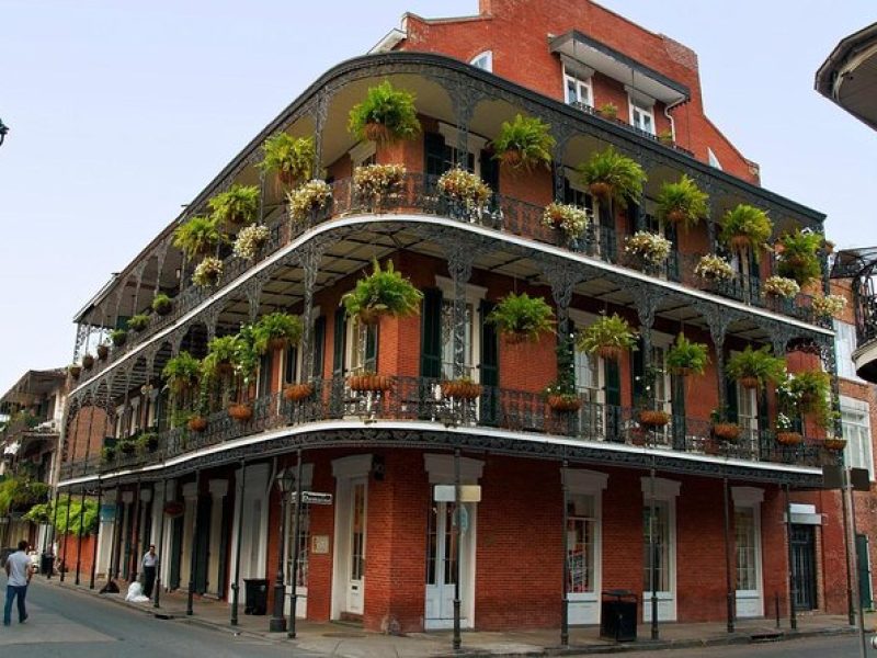
[[[579,65],[599,71],[613,80],[618,80],[635,95],[646,95],[667,105],[691,99],[687,86],[671,80],[578,30],[551,38],[548,45],[551,53],[557,53],[563,58],[568,68]]]

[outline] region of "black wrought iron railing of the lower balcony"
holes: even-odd
[[[169,458],[193,453],[242,436],[283,428],[314,424],[326,420],[361,421],[365,427],[379,421],[434,423],[437,428],[465,427],[491,429],[525,435],[562,436],[583,443],[613,446],[642,446],[665,455],[684,453],[705,458],[732,458],[745,462],[818,467],[836,461],[836,453],[818,439],[805,439],[797,446],[784,446],[768,430],[743,428],[741,438],[729,442],[713,435],[711,423],[704,419],[670,416],[663,427],[648,426],[640,411],[579,398],[571,411],[553,409],[542,394],[480,386],[477,397],[465,399],[449,395],[447,383],[423,377],[383,377],[391,386],[386,390],[353,390],[346,377],[314,382],[314,393],[298,401],[284,395],[262,396],[252,402],[252,417],[232,420],[224,409],[207,418],[204,431],[187,427],[159,433],[152,452],[118,454],[109,462],[95,455],[67,463],[61,479],[126,470],[160,464]],[[386,383],[386,382],[385,382]],[[627,450],[627,449],[624,449]],[[221,457],[218,457],[221,460]]]

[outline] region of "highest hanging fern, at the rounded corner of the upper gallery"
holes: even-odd
[[[348,129],[356,139],[381,144],[413,139],[420,133],[414,94],[389,80],[369,87],[365,100],[350,111]]]

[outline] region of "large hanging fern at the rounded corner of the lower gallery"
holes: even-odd
[[[384,315],[405,317],[420,314],[423,293],[394,270],[388,260],[381,270],[377,259],[372,261],[373,271],[360,279],[354,288],[341,298],[349,317],[357,317],[364,325],[374,325]]]

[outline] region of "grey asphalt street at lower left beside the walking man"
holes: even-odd
[[[0,578],[5,595],[5,577]],[[158,620],[140,611],[34,578],[27,591],[27,622],[0,626],[0,656],[12,658],[235,658],[291,655],[278,645],[232,632]],[[296,650],[296,656],[306,654]],[[311,654],[312,656],[312,654]]]

